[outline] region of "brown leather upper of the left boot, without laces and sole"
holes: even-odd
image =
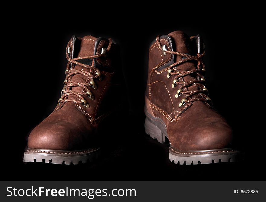
[[[101,54],[102,48],[107,48],[108,39],[84,36],[70,39],[71,58]],[[93,67],[100,70],[102,80],[94,79],[97,89],[88,87],[95,99],[84,96],[89,108],[83,104],[73,102],[60,103],[44,121],[31,132],[28,138],[28,147],[37,149],[54,150],[81,150],[95,147],[99,143],[99,127],[102,120],[112,116],[112,112],[118,109],[120,102],[120,90],[122,71],[118,46],[112,43],[111,49],[105,57],[83,59],[81,63],[90,62]],[[70,64],[70,68],[87,70],[79,65]],[[62,72],[63,73],[63,72]],[[89,80],[81,74],[70,76],[68,81],[89,83]],[[63,82],[62,82],[63,83]],[[75,92],[85,92],[80,86],[72,87]],[[67,99],[80,98],[69,95]]]

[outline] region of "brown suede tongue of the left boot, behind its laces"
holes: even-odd
[[[74,49],[74,58],[75,57],[85,57],[85,56],[90,56],[94,55],[94,46],[96,42],[95,37],[93,36],[84,36],[82,39],[77,38],[75,42],[75,49]],[[79,41],[78,41],[79,40]],[[78,46],[80,44],[80,47]],[[76,47],[77,45],[77,47]],[[80,59],[78,62],[86,64],[86,65],[92,65],[92,59]],[[76,70],[84,70],[87,71],[89,69],[75,65],[74,69]],[[75,74],[72,76],[71,81],[78,82],[78,83],[86,83],[87,78],[81,74]],[[73,91],[76,92],[82,92],[83,88],[82,87],[72,87],[71,88]],[[76,95],[69,95],[69,99],[79,99]]]

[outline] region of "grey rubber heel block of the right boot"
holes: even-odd
[[[164,143],[165,142],[165,135],[164,133],[154,125],[148,118],[145,119],[145,132],[150,135],[153,139],[157,139],[158,142]]]

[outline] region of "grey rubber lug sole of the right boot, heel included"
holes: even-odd
[[[147,112],[146,112],[147,113]],[[146,114],[147,115],[147,114]],[[166,126],[160,118],[150,120],[145,119],[145,132],[158,142],[164,143],[165,137],[168,138]],[[208,164],[222,162],[236,162],[244,159],[244,153],[234,149],[217,149],[202,151],[180,151],[169,147],[169,159],[175,164]]]

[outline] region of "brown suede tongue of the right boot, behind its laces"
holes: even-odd
[[[180,53],[186,53],[189,55],[196,56],[196,44],[193,46],[191,39],[187,34],[185,34],[182,31],[174,31],[168,34],[168,36],[171,37],[173,45],[173,51],[180,52]],[[176,55],[176,61],[180,61],[186,57]],[[196,61],[187,61],[184,63],[181,63],[176,66],[176,69],[179,71],[191,71],[197,68],[197,62]],[[196,75],[187,75],[183,77],[184,81],[193,81],[196,80]],[[198,90],[197,86],[190,86],[188,87],[188,90],[195,91]]]

